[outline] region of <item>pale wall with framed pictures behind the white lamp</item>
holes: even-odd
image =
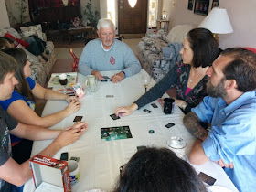
[[[171,0],[165,0],[170,1]],[[178,24],[194,24],[198,26],[205,16],[194,14],[187,9],[188,0],[176,1],[175,10],[168,8],[169,14],[175,11],[174,22],[171,27]],[[212,0],[210,0],[211,8]],[[219,35],[219,47],[253,47],[256,48],[256,1],[255,0],[219,0],[219,7],[226,8],[229,14],[230,22],[234,29],[232,34]]]

